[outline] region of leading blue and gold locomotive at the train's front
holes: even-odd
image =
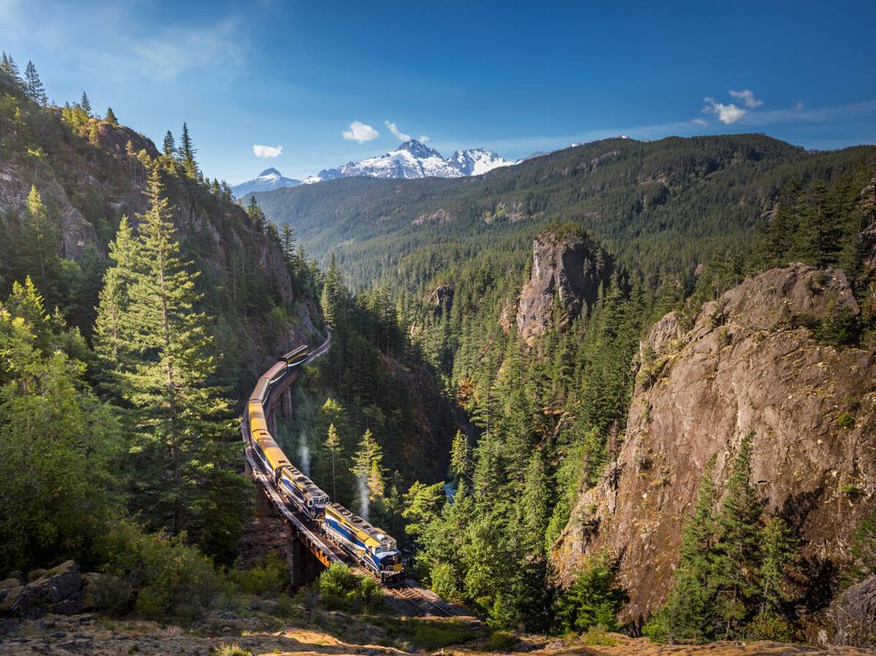
[[[402,554],[394,539],[339,503],[325,507],[323,530],[362,565],[377,573],[381,581],[392,581],[402,575]]]

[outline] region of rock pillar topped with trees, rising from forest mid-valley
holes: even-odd
[[[530,346],[593,305],[610,275],[609,258],[581,235],[547,232],[532,243],[532,273],[517,303],[517,332]]]

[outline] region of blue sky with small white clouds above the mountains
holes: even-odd
[[[156,143],[187,121],[231,183],[384,153],[387,123],[445,156],[621,132],[876,142],[876,2],[608,5],[0,0],[0,49]]]

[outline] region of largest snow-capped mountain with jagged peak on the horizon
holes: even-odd
[[[362,162],[349,162],[337,169],[321,170],[315,176],[304,179],[306,185],[336,178],[462,178],[478,176],[500,166],[510,166],[498,154],[482,148],[458,150],[444,159],[434,148],[420,143],[417,139],[405,141],[395,150],[378,157],[369,157]]]

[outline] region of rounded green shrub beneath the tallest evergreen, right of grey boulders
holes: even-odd
[[[183,541],[123,522],[108,536],[107,573],[128,581],[134,610],[147,618],[195,618],[211,604],[221,578],[209,557]]]

